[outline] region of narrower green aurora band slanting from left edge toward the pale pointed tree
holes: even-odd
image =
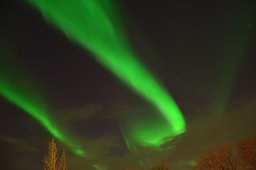
[[[38,120],[54,138],[65,143],[74,153],[85,156],[86,153],[77,141],[65,134],[53,121],[40,90],[35,88],[35,83],[30,81],[32,78],[19,65],[12,55],[4,53],[4,49],[1,50],[0,95]]]

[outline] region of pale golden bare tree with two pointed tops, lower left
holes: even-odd
[[[63,149],[60,160],[58,159],[58,148],[54,138],[49,141],[48,153],[44,159],[44,170],[67,170],[66,152]]]

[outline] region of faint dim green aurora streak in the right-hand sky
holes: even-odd
[[[246,48],[251,40],[252,32],[254,31],[251,24],[255,24],[255,8],[249,1],[244,6],[239,6],[234,16],[234,23],[231,27],[230,40],[225,44],[223,53],[224,64],[219,71],[220,78],[214,85],[217,89],[212,95],[216,99],[214,103],[214,113],[221,115],[225,112],[230,93],[234,81],[236,80],[236,71],[239,69],[240,63],[246,57]]]

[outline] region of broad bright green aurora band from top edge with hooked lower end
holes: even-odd
[[[140,125],[138,122],[135,127],[131,125],[132,129],[127,128],[131,134],[125,140],[128,147],[131,143],[159,146],[165,138],[186,131],[179,106],[132,51],[112,1],[34,0],[32,4],[41,11],[45,20],[60,28],[72,41],[90,50],[100,64],[162,113],[164,119],[161,122],[153,125]]]

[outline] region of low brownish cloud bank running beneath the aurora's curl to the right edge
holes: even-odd
[[[173,169],[192,169],[191,164],[208,148],[250,137],[255,132],[255,110],[256,100],[239,101],[225,115],[195,115],[196,118],[188,123],[185,134],[165,143],[160,149],[138,147],[138,152],[130,153],[124,150],[122,139],[118,139],[122,138],[120,134],[106,134],[86,146],[92,150],[95,164],[107,166],[111,170],[140,167],[141,164],[153,166],[161,162]],[[113,152],[113,148],[122,148],[122,154]]]

